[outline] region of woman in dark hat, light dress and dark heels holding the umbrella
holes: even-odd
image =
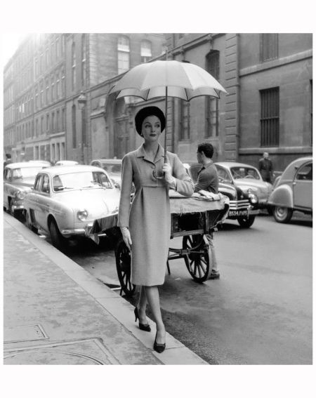
[[[164,284],[170,239],[169,188],[190,197],[194,185],[176,154],[167,152],[159,137],[166,119],[158,107],[145,107],[135,117],[136,131],[144,138],[138,150],[122,160],[119,227],[126,246],[131,251],[131,282],[141,286],[136,320],[143,331],[150,331],[146,306],[150,305],[157,333],[154,350],[164,351],[166,331],[159,304],[158,286]],[[131,187],[136,191],[131,201]]]

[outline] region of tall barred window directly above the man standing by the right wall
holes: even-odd
[[[279,146],[279,87],[260,91],[261,147]]]

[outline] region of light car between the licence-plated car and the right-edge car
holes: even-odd
[[[268,210],[268,197],[272,191],[272,184],[263,181],[256,167],[232,161],[217,161],[214,164],[220,182],[231,183],[239,187],[244,194],[255,194],[258,198],[258,208]]]

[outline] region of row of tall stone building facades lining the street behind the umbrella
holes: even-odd
[[[196,160],[211,142],[215,161],[275,170],[312,154],[312,34],[41,34],[4,70],[4,152],[13,160],[121,157],[142,142],[134,117],[164,98],[114,100],[110,88],[148,60],[192,62],[226,89],[220,99],[169,98],[168,150]],[[162,142],[164,136],[162,135]]]

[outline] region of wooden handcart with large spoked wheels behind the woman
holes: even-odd
[[[202,283],[211,274],[209,242],[206,234],[213,234],[218,223],[225,220],[229,210],[229,200],[219,194],[220,199],[214,201],[197,200],[196,198],[175,197],[170,199],[171,205],[171,239],[183,237],[182,248],[169,248],[166,263],[170,274],[169,262],[183,258],[191,277]],[[157,227],[157,226],[153,226]],[[133,296],[136,286],[131,283],[131,254],[126,247],[119,227],[117,215],[95,220],[87,235],[105,233],[117,241],[115,259],[117,276],[121,284],[121,294]]]

